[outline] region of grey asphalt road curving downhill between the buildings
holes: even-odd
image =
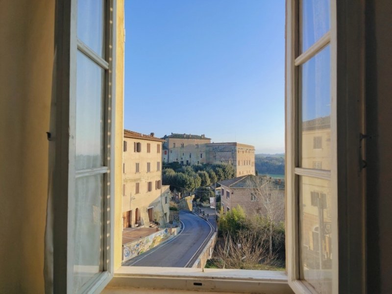
[[[185,211],[180,212],[180,221],[182,230],[176,237],[126,261],[123,266],[191,267],[214,226]]]

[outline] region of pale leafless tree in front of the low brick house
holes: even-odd
[[[285,204],[284,191],[279,187],[280,182],[275,182],[268,176],[252,176],[246,181],[245,186],[251,190],[251,197],[253,197],[255,205],[253,207],[261,207],[253,217],[264,217],[268,221],[269,226],[269,255],[272,258],[272,239],[274,234],[274,226],[279,221],[284,220]],[[258,205],[256,205],[256,203]],[[253,222],[257,225],[260,222]]]

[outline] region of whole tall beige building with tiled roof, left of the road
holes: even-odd
[[[169,221],[169,186],[162,186],[162,142],[154,133],[124,130],[123,228]]]

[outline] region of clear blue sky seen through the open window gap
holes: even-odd
[[[284,0],[125,0],[124,127],[284,152]]]

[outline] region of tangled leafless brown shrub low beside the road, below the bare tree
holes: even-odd
[[[269,256],[267,235],[241,230],[236,234],[227,233],[223,242],[215,247],[215,256],[223,269],[258,269],[261,262],[270,264],[274,260]]]

